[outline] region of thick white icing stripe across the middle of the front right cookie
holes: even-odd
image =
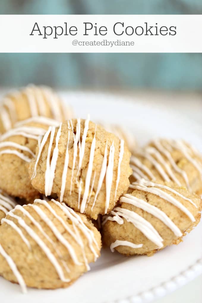
[[[174,232],[174,234],[177,237],[182,236],[182,233],[181,233],[180,229],[173,223],[173,221],[163,211],[161,211],[156,206],[151,205],[151,204],[149,204],[148,202],[146,202],[142,199],[138,199],[138,198],[136,198],[132,195],[128,195],[128,194],[123,195],[120,198],[120,202],[132,204],[132,205],[134,205],[138,208],[143,209],[144,211],[147,211],[148,213],[150,213],[154,217],[161,220],[168,228],[170,228]]]

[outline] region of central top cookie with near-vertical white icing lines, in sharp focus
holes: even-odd
[[[114,208],[127,191],[130,152],[115,135],[89,119],[51,127],[29,165],[34,188],[57,194],[76,211],[97,219]]]

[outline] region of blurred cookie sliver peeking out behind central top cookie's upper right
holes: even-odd
[[[119,139],[124,140],[126,146],[128,147],[129,151],[133,154],[135,148],[137,148],[137,142],[134,138],[134,135],[130,132],[129,129],[115,124],[106,124],[106,123],[99,123],[107,132],[111,132]]]

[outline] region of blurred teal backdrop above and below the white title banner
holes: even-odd
[[[0,14],[202,14],[202,1],[1,0]],[[201,91],[202,54],[0,54],[1,86],[30,82]]]

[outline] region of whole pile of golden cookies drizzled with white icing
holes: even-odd
[[[23,291],[69,286],[102,242],[153,255],[198,224],[202,158],[186,142],[138,148],[118,126],[75,119],[42,86],[0,107],[0,275]]]

